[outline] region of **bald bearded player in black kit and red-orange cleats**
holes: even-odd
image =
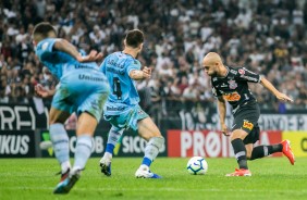
[[[281,101],[293,102],[293,100],[277,90],[263,76],[245,67],[234,68],[225,66],[218,53],[209,52],[202,60],[202,67],[211,76],[212,92],[218,98],[221,129],[225,136],[231,137],[231,143],[238,163],[238,170],[226,174],[226,176],[251,176],[247,167],[247,159],[260,159],[275,152],[283,152],[291,164],[294,164],[295,159],[288,140],[283,140],[278,145],[254,148],[254,143],[259,140],[258,118],[260,111],[257,100],[248,89],[247,83],[260,83]],[[233,108],[234,122],[231,128],[232,134],[228,132],[224,121],[225,101]]]

